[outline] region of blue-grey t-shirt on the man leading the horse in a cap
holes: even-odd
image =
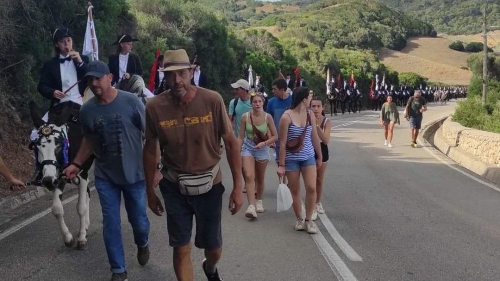
[[[83,134],[94,146],[95,176],[117,185],[144,180],[142,132],[145,107],[132,93],[118,90],[108,104],[95,97],[80,109]]]

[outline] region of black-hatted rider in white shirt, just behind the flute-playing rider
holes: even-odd
[[[121,79],[128,79],[137,74],[142,75],[142,65],[139,57],[132,53],[132,42],[138,41],[129,34],[120,35],[113,45],[118,45],[116,53],[110,55],[107,65],[113,74],[112,85],[118,83]]]

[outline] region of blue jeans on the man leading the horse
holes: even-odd
[[[146,216],[146,184],[139,181],[130,185],[116,185],[102,178],[95,177],[95,189],[99,194],[102,209],[102,235],[106,246],[107,260],[112,273],[125,271],[125,252],[121,239],[121,193],[132,226],[135,244],[147,246],[149,220]]]

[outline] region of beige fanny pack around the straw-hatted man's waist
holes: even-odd
[[[213,180],[217,176],[219,169],[219,165],[216,164],[210,171],[194,175],[178,173],[163,167],[161,174],[165,179],[177,183],[181,194],[193,196],[207,193],[212,189]]]

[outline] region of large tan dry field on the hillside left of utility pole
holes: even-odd
[[[398,72],[415,72],[433,82],[467,85],[472,72],[460,69],[466,66],[468,53],[448,48],[447,38],[413,37],[401,51],[382,48],[382,63]]]

